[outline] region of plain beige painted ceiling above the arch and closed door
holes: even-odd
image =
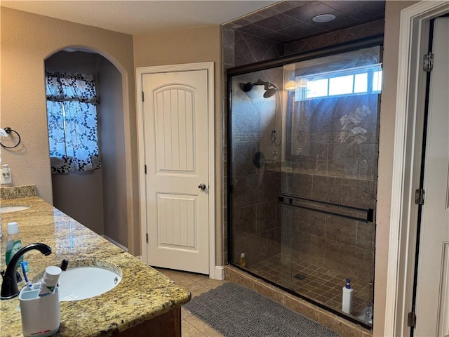
[[[1,1],[1,6],[126,34],[221,25],[277,1]]]

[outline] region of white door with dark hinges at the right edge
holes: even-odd
[[[449,18],[434,26],[415,336],[449,335]]]

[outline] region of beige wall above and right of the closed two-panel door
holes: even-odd
[[[134,37],[135,67],[214,62],[215,67],[215,265],[223,263],[221,99],[221,27],[210,25]]]

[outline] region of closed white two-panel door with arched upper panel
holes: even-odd
[[[207,71],[145,74],[142,88],[147,263],[209,274]]]

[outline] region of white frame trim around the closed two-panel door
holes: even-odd
[[[145,186],[145,139],[144,118],[142,102],[142,79],[145,74],[157,74],[162,72],[186,72],[206,70],[208,72],[208,204],[209,204],[209,277],[221,277],[222,267],[215,267],[215,98],[214,98],[214,62],[197,62],[178,65],[156,65],[149,67],[137,67],[136,81],[136,109],[138,122],[138,167],[139,167],[139,206],[140,206],[140,242],[142,261],[147,263],[147,194]]]

